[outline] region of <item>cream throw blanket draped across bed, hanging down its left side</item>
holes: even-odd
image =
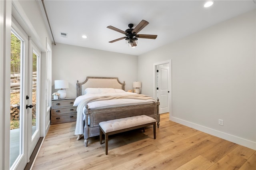
[[[79,103],[76,111],[77,111],[77,118],[76,118],[76,130],[75,135],[81,135],[84,133],[84,113],[83,108],[87,105],[87,103],[94,102],[94,101],[102,101],[102,100],[111,100],[111,99],[139,99],[139,100],[148,100],[153,99],[147,95],[126,95],[126,96],[100,96],[100,97],[90,97],[88,99],[84,99],[82,102]],[[153,99],[154,100],[154,99]],[[80,138],[80,136],[78,137]]]

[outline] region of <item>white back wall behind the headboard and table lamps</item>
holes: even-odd
[[[87,76],[118,77],[125,90],[132,89],[138,77],[138,56],[57,43],[52,46],[52,92],[54,80],[68,80],[67,97],[76,97],[76,81]]]

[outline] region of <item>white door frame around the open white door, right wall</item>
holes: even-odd
[[[153,64],[153,97],[157,99],[157,91],[156,91],[156,70],[158,65],[168,64],[169,65],[169,82],[168,89],[170,89],[169,93],[169,117],[172,117],[172,60],[160,61]],[[160,103],[161,105],[161,103]]]

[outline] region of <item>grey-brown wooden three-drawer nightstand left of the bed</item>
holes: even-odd
[[[51,125],[76,121],[75,99],[52,99]]]

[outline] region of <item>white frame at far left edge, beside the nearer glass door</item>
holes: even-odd
[[[12,1],[0,0],[0,169],[10,168],[10,53]]]

